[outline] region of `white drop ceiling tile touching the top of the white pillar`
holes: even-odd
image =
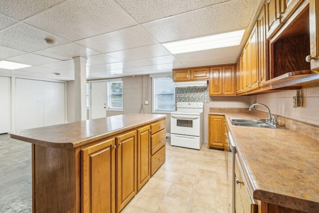
[[[97,51],[94,51],[74,42],[43,49],[40,51],[36,51],[35,53],[39,55],[48,56],[51,58],[57,58],[60,60],[69,60],[77,56],[86,57],[90,55],[100,54]]]

